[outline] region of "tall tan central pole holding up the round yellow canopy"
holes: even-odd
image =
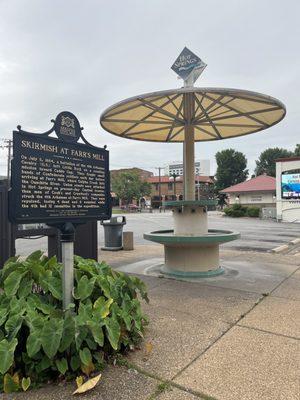
[[[185,86],[190,86],[185,82]],[[195,140],[194,126],[194,94],[184,93],[183,112],[185,119],[184,144],[183,144],[183,171],[184,171],[184,199],[195,200]]]

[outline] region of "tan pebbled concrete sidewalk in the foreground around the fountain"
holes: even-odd
[[[162,251],[140,246],[104,256],[126,270]],[[108,367],[82,398],[299,400],[299,258],[226,250],[221,259],[237,273],[198,282],[140,275],[150,298],[141,349],[126,356],[125,365]],[[2,398],[70,399],[73,390],[48,386]]]

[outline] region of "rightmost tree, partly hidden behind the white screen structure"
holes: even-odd
[[[279,147],[269,148],[264,150],[259,159],[256,160],[255,175],[267,174],[269,176],[276,176],[276,163],[277,158],[292,157],[294,153],[287,149]]]

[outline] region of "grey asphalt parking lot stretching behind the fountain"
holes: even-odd
[[[143,239],[144,232],[172,228],[171,212],[153,214],[126,214],[124,230],[134,232],[135,244],[153,244]],[[252,249],[268,251],[276,246],[300,237],[300,224],[278,223],[271,220],[252,218],[222,217],[217,212],[209,212],[209,228],[229,229],[241,233],[241,239],[225,244],[239,250]],[[99,246],[104,243],[103,228],[99,226]],[[46,251],[47,240],[17,240],[17,254],[26,255],[36,249]]]

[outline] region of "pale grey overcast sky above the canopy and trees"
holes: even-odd
[[[91,143],[108,145],[111,169],[180,160],[181,144],[118,138],[99,116],[127,97],[182,86],[170,67],[187,46],[208,64],[197,86],[285,103],[285,119],[266,131],[196,144],[211,172],[215,153],[229,147],[253,170],[265,148],[300,142],[299,15],[297,0],[0,0],[0,137],[11,138],[18,124],[46,131],[68,110]],[[5,157],[1,150],[0,174]]]

